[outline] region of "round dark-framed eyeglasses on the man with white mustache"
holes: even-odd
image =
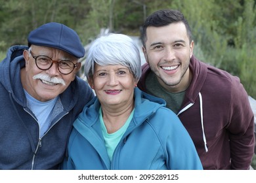
[[[48,56],[33,56],[33,53],[30,51],[32,58],[35,59],[35,65],[37,65],[38,69],[46,71],[53,66],[53,63],[58,65],[58,71],[63,75],[68,75],[74,71],[77,65],[68,59],[61,59],[59,61],[54,61]]]

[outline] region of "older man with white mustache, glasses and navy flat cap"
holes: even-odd
[[[72,124],[94,94],[76,76],[85,50],[51,22],[12,46],[0,63],[0,169],[59,169]]]

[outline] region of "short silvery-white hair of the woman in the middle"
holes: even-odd
[[[92,42],[84,66],[87,80],[94,74],[95,63],[101,66],[123,65],[129,68],[135,80],[141,76],[139,48],[127,35],[110,33]]]

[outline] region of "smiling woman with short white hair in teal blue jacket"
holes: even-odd
[[[196,148],[163,99],[137,88],[140,53],[127,35],[96,39],[85,76],[96,97],[74,122],[64,169],[202,169]]]

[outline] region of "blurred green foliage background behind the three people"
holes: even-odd
[[[256,0],[0,0],[0,60],[14,44],[27,44],[32,29],[47,22],[72,27],[84,45],[102,28],[139,36],[144,18],[162,8],[181,10],[205,63],[240,77],[256,98]],[[256,169],[256,158],[253,160]]]

